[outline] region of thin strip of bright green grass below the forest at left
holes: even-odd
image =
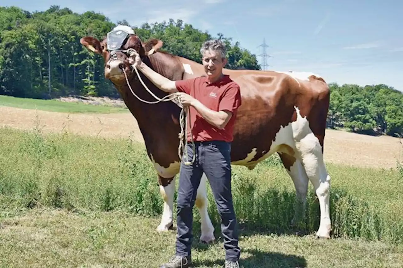
[[[61,113],[127,113],[122,107],[90,105],[85,103],[62,102],[57,100],[16,98],[0,95],[0,106],[23,109],[38,109]]]

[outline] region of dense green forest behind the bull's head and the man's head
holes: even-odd
[[[118,23],[129,25],[125,19]],[[102,14],[78,14],[57,5],[33,13],[1,7],[0,94],[31,98],[69,94],[117,97],[112,83],[104,79],[102,57],[91,56],[79,42],[84,35],[103,39],[114,26]],[[212,38],[190,24],[172,19],[168,23],[145,23],[135,31],[143,41],[159,38],[164,41],[163,50],[197,62],[201,62],[200,46]],[[260,68],[256,57],[241,49],[239,43],[227,43],[229,68]]]

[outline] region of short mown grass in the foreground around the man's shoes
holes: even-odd
[[[0,267],[159,267],[174,253],[175,231],[158,234],[158,224],[123,211],[24,210],[2,221]],[[382,242],[241,232],[239,244],[245,268],[403,266],[403,247]],[[195,239],[192,256],[194,267],[222,267],[222,241]]]

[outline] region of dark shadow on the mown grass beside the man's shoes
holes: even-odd
[[[241,258],[239,266],[243,268],[272,268],[272,267],[306,267],[306,260],[296,255],[286,255],[276,252],[264,252],[256,249],[244,249],[243,253],[252,256]],[[224,260],[195,261],[193,267],[224,265]]]

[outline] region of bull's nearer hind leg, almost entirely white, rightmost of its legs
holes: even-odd
[[[301,154],[302,165],[319,199],[320,225],[316,235],[330,238],[332,228],[329,209],[330,176],[323,161],[322,146],[312,132],[305,135],[296,145]]]

